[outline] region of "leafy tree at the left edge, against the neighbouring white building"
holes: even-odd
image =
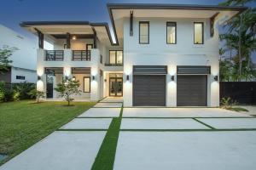
[[[18,48],[9,48],[9,46],[3,46],[0,48],[0,73],[9,71],[9,66],[13,62],[9,57],[16,51]]]

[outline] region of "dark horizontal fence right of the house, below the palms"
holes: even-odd
[[[256,82],[219,83],[219,99],[230,97],[242,105],[256,105]]]

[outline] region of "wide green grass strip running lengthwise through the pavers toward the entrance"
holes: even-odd
[[[108,132],[103,139],[101,148],[96,156],[96,159],[91,167],[91,170],[112,170],[115,157],[115,151],[119,139],[119,129],[123,114],[123,106],[119,117],[113,117]]]

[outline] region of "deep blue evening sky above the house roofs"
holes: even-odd
[[[22,21],[86,20],[108,22],[112,29],[107,3],[179,3],[218,5],[224,0],[1,0],[0,24],[20,34],[35,39],[30,32],[20,28]],[[249,6],[256,6],[250,3]],[[1,35],[0,35],[1,38]],[[256,54],[253,54],[256,62]]]

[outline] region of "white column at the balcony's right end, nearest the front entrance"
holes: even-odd
[[[97,101],[100,99],[100,51],[97,48],[90,51],[90,100]],[[94,80],[93,80],[94,78]]]

